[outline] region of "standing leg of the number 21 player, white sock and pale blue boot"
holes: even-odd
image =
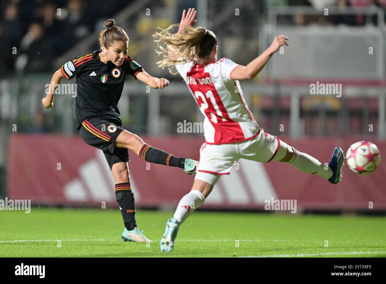
[[[207,180],[208,182],[195,179],[190,192],[179,201],[173,218],[166,222],[165,233],[161,238],[161,252],[171,252],[173,250],[174,241],[177,238],[181,224],[203,204],[205,198],[212,191],[213,185],[220,178],[220,175],[213,175],[211,173],[204,173],[204,175],[208,175],[210,178]]]

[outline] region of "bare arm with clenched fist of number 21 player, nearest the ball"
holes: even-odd
[[[232,71],[230,78],[232,80],[248,80],[254,78],[264,68],[269,58],[278,51],[280,46],[288,44],[288,37],[281,36],[275,37],[273,43],[267,48],[259,57],[252,60],[247,66],[239,65]]]

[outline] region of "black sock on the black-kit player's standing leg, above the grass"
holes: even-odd
[[[121,208],[125,228],[129,231],[137,226],[135,223],[134,193],[131,191],[130,182],[115,185],[115,197]]]

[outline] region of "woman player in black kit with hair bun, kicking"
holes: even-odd
[[[129,162],[127,149],[148,162],[183,168],[189,174],[196,172],[198,162],[153,148],[139,136],[122,128],[117,105],[126,75],[132,75],[155,89],[167,87],[169,81],[147,74],[141,65],[127,55],[129,37],[121,27],[114,24],[114,20],[105,22],[107,29],[99,37],[101,50],[76,56],[54,73],[42,104],[47,109],[51,108],[54,105],[54,87],[63,78],[69,80],[76,76],[76,127],[88,145],[103,150],[110,166],[115,180],[115,196],[125,224],[122,240],[149,241],[135,222],[134,194],[126,163]]]

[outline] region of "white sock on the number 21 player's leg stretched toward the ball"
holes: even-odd
[[[294,152],[294,155],[292,159],[287,162],[288,164],[293,165],[302,172],[313,173],[315,175],[318,175],[319,177],[324,177],[325,179],[329,179],[330,177],[332,177],[332,170],[330,169],[330,167],[327,166],[327,170],[325,170],[325,165],[320,163],[314,157],[306,153],[300,152],[293,147],[291,148]]]

